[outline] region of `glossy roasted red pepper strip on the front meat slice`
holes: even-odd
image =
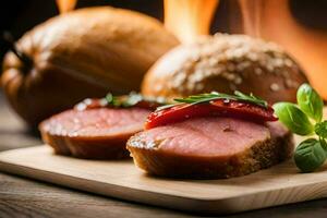
[[[181,122],[189,118],[199,117],[232,117],[253,122],[277,121],[271,107],[263,108],[253,104],[217,99],[206,104],[180,104],[172,108],[152,112],[145,123],[145,129],[153,129],[169,123]]]

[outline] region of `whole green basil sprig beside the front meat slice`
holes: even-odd
[[[324,102],[317,92],[303,84],[296,93],[298,105],[274,105],[279,120],[298,135],[312,136],[301,142],[294,153],[294,161],[302,172],[318,169],[327,159],[327,121],[323,120]]]

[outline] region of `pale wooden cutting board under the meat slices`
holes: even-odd
[[[0,170],[128,201],[210,214],[327,196],[326,167],[314,173],[299,173],[292,160],[228,180],[171,180],[148,177],[132,160],[82,160],[37,146],[1,153]]]

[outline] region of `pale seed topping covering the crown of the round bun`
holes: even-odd
[[[240,74],[245,76],[244,72],[246,75],[278,73],[288,78],[290,68],[293,71],[296,66],[278,45],[245,35],[216,34],[181,47],[186,47],[190,53],[181,49],[181,53],[186,57],[181,66],[172,72],[170,82],[171,88],[180,92],[201,90],[206,81],[214,77],[226,78],[231,82],[230,88],[235,89],[235,85],[243,82]],[[294,85],[292,81],[284,83],[286,86]],[[274,83],[270,89],[276,92],[280,86]]]

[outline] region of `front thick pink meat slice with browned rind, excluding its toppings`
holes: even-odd
[[[209,179],[249,174],[293,152],[279,122],[197,118],[140,132],[128,142],[135,164],[150,174]]]

